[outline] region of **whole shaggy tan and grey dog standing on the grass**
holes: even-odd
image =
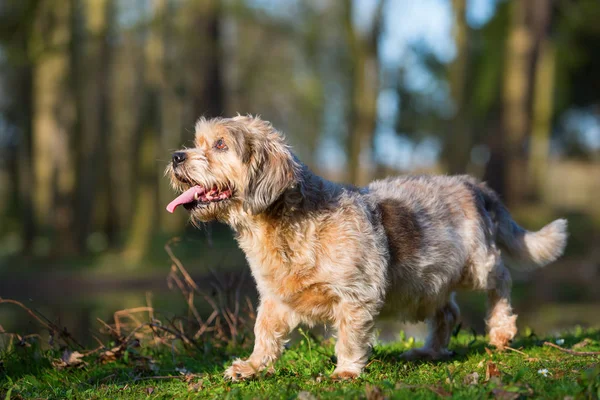
[[[355,378],[383,314],[429,324],[425,346],[405,359],[445,358],[461,289],[487,293],[490,343],[502,349],[517,332],[507,266],[544,266],[566,244],[566,220],[526,231],[469,176],[329,182],[250,116],[200,119],[195,147],[174,153],[167,174],[182,192],[167,210],[230,225],[256,280],[254,351],[225,371],[231,380],[272,371],[290,331],[317,322],[337,333],[332,377]]]

